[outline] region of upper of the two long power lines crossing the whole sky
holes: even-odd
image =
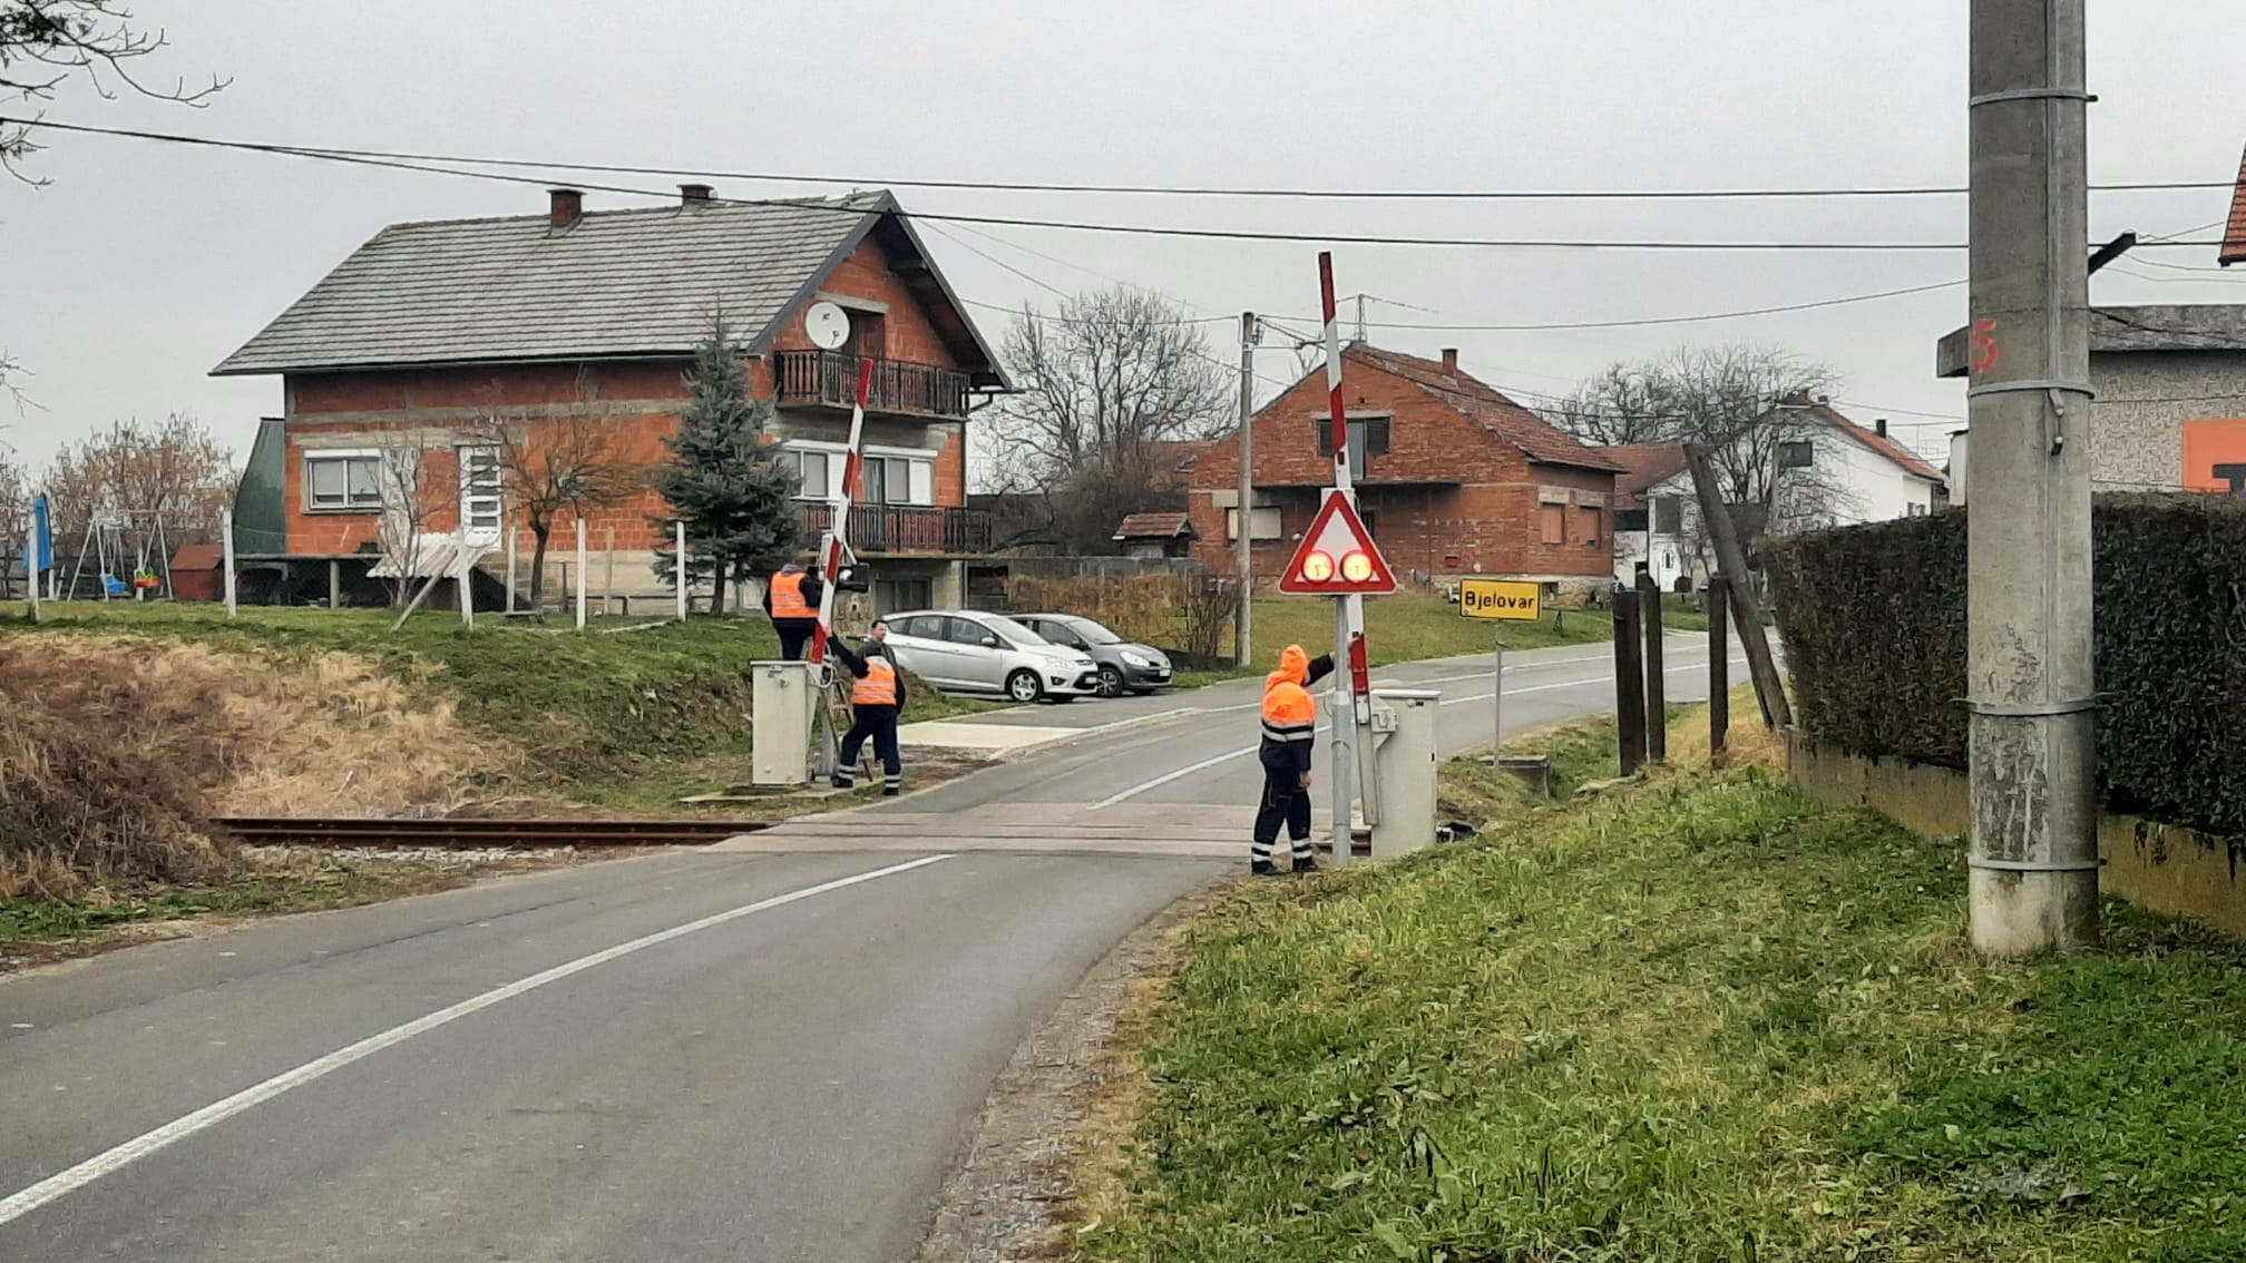
[[[7,126],[45,126],[88,135],[135,139],[204,142],[202,137],[141,133],[130,128],[97,128],[40,119],[0,119]],[[416,153],[386,148],[330,148],[276,142],[204,142],[229,148],[261,148],[321,157],[377,157],[391,162],[447,162],[463,166],[512,166],[539,171],[595,171],[606,175],[694,175],[701,180],[757,180],[766,184],[856,184],[901,189],[959,189],[984,193],[1116,193],[1166,198],[1296,198],[1296,200],[1390,200],[1390,202],[1646,202],[1646,200],[1750,200],[1750,198],[1963,198],[1963,184],[1871,184],[1828,189],[1273,189],[1273,187],[1197,187],[1197,184],[1067,184],[1035,180],[912,180],[867,175],[806,175],[782,171],[712,171],[694,166],[636,166],[620,162],[564,162],[535,157],[476,157],[460,153]],[[2127,180],[2091,184],[2100,193],[2165,193],[2230,189],[2237,180]]]

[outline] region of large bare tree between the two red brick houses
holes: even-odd
[[[990,427],[990,490],[1042,497],[1076,551],[1107,551],[1127,512],[1184,508],[1159,485],[1161,445],[1224,434],[1238,411],[1202,326],[1130,285],[1062,299],[1051,317],[1024,308],[1006,364],[1020,393]]]

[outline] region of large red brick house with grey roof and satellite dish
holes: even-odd
[[[840,351],[804,330],[820,301],[847,315]],[[541,216],[382,229],[213,369],[281,378],[281,422],[261,429],[245,479],[279,503],[236,508],[281,537],[265,526],[243,553],[319,589],[362,580],[380,553],[377,461],[411,434],[422,485],[438,488],[424,530],[458,530],[465,503],[478,569],[496,578],[508,528],[528,530],[476,427],[496,414],[535,443],[541,425],[593,420],[656,465],[716,310],[750,355],[750,391],[777,407],[813,530],[842,479],[856,357],[876,360],[853,542],[878,607],[957,600],[959,560],[990,546],[988,517],[966,508],[968,411],[1006,380],[889,193],[750,205],[683,184],[672,207],[586,211],[555,189]],[[665,512],[647,490],[588,517],[595,548],[613,530],[618,591],[665,591],[651,564]],[[557,535],[573,539],[575,519]]]

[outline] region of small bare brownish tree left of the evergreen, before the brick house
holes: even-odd
[[[649,490],[654,467],[631,452],[618,425],[593,416],[492,416],[476,438],[499,452],[501,517],[521,515],[530,526],[530,609],[541,611],[546,553],[562,515],[584,517],[631,501]]]

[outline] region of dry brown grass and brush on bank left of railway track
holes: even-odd
[[[429,814],[517,757],[348,654],[18,638],[0,681],[0,897],[202,881],[207,816]]]

